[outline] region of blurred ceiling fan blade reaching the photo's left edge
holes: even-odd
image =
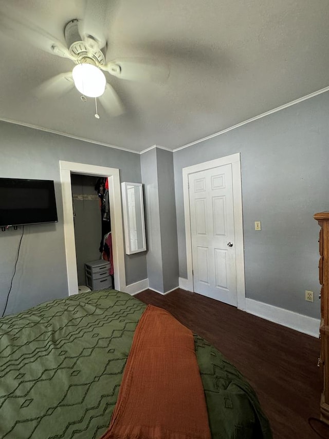
[[[63,42],[38,25],[29,22],[19,11],[8,6],[8,4],[6,6],[1,5],[0,29],[6,35],[9,34],[10,37],[18,38],[24,42],[27,41],[50,54],[73,59]]]

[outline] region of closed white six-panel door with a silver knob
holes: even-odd
[[[189,197],[194,291],[236,306],[231,164],[189,174]]]

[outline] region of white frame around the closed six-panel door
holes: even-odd
[[[183,197],[185,215],[185,236],[186,236],[186,259],[187,259],[187,288],[194,291],[192,274],[192,237],[191,237],[191,213],[189,197],[189,174],[204,171],[217,166],[232,165],[232,184],[233,184],[233,213],[234,213],[234,245],[236,261],[236,293],[237,308],[246,309],[246,289],[245,289],[245,263],[243,247],[243,218],[242,218],[242,188],[241,188],[241,162],[240,152],[227,155],[220,159],[210,160],[209,162],[198,163],[182,169],[183,177]]]

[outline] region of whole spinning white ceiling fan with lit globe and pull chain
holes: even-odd
[[[118,58],[106,62],[108,3],[107,0],[85,0],[83,19],[72,19],[65,25],[65,44],[6,5],[0,15],[2,31],[13,32],[13,37],[23,39],[50,54],[68,58],[76,64],[72,71],[60,73],[41,84],[39,96],[65,94],[76,87],[82,100],[86,100],[86,96],[95,98],[96,118],[99,118],[96,98],[109,115],[117,116],[124,109],[114,88],[106,81],[104,72],[133,81],[165,82],[168,79],[169,66],[153,59]]]

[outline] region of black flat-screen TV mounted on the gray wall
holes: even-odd
[[[52,180],[0,178],[0,227],[57,221]]]

